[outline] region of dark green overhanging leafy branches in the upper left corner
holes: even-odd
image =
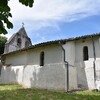
[[[7,34],[8,29],[13,28],[13,24],[9,21],[9,17],[12,17],[10,13],[10,7],[8,6],[8,2],[10,0],[0,0],[0,34]],[[34,0],[19,0],[25,6],[33,7]]]

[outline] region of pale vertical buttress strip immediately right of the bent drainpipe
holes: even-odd
[[[75,43],[73,41],[66,42],[63,45],[65,49],[65,60],[68,62],[69,69],[69,89],[77,88],[77,71],[75,67]]]

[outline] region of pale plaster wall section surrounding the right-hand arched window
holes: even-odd
[[[94,38],[96,60],[100,58],[99,39]],[[94,82],[94,51],[91,38],[75,41],[75,66],[77,67],[77,82],[79,88],[95,89]],[[83,61],[83,47],[88,47],[89,60]],[[96,62],[95,62],[96,64]],[[97,66],[96,66],[97,67]]]

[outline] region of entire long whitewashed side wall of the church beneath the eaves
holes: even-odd
[[[94,39],[95,51],[96,51],[96,86],[100,88],[99,71],[100,71],[100,41],[98,38]],[[63,45],[66,53],[65,60],[69,63],[69,88],[76,89],[94,89],[94,55],[93,44],[90,38],[80,39],[76,41],[69,41]],[[83,61],[83,47],[88,46],[89,60]],[[44,66],[40,66],[40,53],[44,52]],[[38,47],[27,51],[7,55],[6,64],[11,64],[11,67],[2,69],[5,73],[4,79],[15,82],[14,78],[11,78],[11,70],[18,66],[23,66],[20,74],[23,76],[22,84],[26,87],[39,87],[50,89],[62,89],[66,90],[66,67],[64,64],[64,54],[61,46],[58,44],[47,45],[44,47]],[[19,68],[19,67],[18,67]],[[11,73],[10,73],[11,72]],[[22,72],[22,73],[21,73]],[[16,73],[16,72],[15,72]],[[8,78],[7,78],[8,77]],[[13,76],[15,77],[15,76]],[[15,78],[16,79],[16,78]],[[19,79],[19,78],[18,78]],[[8,80],[8,82],[9,82]],[[18,80],[17,80],[18,82]],[[21,81],[20,81],[21,82]]]

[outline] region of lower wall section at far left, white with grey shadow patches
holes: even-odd
[[[23,66],[10,66],[2,67],[1,71],[1,84],[22,84],[23,79]]]

